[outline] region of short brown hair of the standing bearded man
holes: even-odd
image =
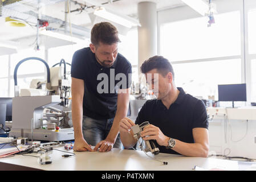
[[[92,27],[91,43],[97,46],[100,42],[109,45],[121,42],[118,37],[118,31],[113,24],[100,22]]]

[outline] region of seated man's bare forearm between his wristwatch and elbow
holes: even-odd
[[[203,145],[201,143],[185,143],[181,142],[180,140],[175,139],[175,146],[172,150],[178,152],[184,156],[196,156],[207,158],[209,146]]]

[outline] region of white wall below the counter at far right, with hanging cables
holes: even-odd
[[[216,152],[219,155],[242,156],[250,159],[256,159],[256,121],[248,121],[248,130],[246,134],[246,122],[241,120],[229,121],[227,124],[227,137],[225,140],[225,122],[224,119],[214,119],[209,123],[210,153]],[[232,131],[232,132],[231,132]],[[231,140],[232,134],[232,140]],[[246,134],[246,135],[245,135]],[[244,137],[244,138],[243,138]],[[243,138],[243,139],[242,139]],[[238,140],[242,139],[239,142]],[[225,151],[225,149],[227,149]]]

